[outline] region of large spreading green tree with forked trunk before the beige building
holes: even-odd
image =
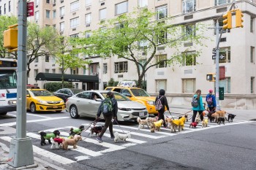
[[[92,31],[91,36],[80,37],[72,43],[75,50],[88,55],[99,55],[102,58],[117,56],[135,63],[138,72],[138,87],[141,87],[145,73],[153,66],[167,64],[173,66],[181,63],[184,55],[178,47],[185,42],[193,46],[203,46],[203,26],[189,28],[188,26],[172,25],[172,18],[154,20],[156,14],[148,10],[120,15],[114,19],[100,22],[101,28]],[[195,35],[194,33],[197,32]],[[176,50],[167,58],[156,58],[157,48],[170,47]],[[189,47],[187,48],[189,50]],[[194,55],[199,55],[200,51]],[[156,59],[156,60],[155,60]]]

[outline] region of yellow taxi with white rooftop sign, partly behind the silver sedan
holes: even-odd
[[[135,81],[121,81],[116,87],[107,87],[105,90],[116,91],[127,96],[131,101],[138,101],[144,104],[148,110],[149,115],[157,115],[158,111],[154,105],[155,97],[151,97],[146,90],[135,87]]]

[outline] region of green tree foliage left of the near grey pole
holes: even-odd
[[[17,56],[17,52],[9,53],[4,48],[4,31],[8,29],[8,26],[16,23],[18,23],[18,18],[15,16],[0,15],[0,58],[6,58],[10,54]]]

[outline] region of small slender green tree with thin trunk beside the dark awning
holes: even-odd
[[[64,73],[67,69],[75,69],[75,68],[84,68],[86,69],[86,64],[91,63],[90,60],[85,60],[79,57],[79,53],[72,52],[72,46],[70,45],[70,39],[67,36],[59,36],[56,39],[54,55],[56,63],[59,64],[59,68],[61,69],[61,80],[62,80],[62,88],[64,88]]]

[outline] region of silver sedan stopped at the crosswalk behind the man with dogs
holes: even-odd
[[[96,117],[99,105],[107,96],[108,90],[89,90],[83,91],[67,99],[66,111],[72,118],[80,115]],[[121,93],[114,92],[118,104],[117,120],[137,120],[138,117],[148,117],[148,111],[143,104],[130,101],[129,98]],[[103,118],[103,115],[101,115]]]

